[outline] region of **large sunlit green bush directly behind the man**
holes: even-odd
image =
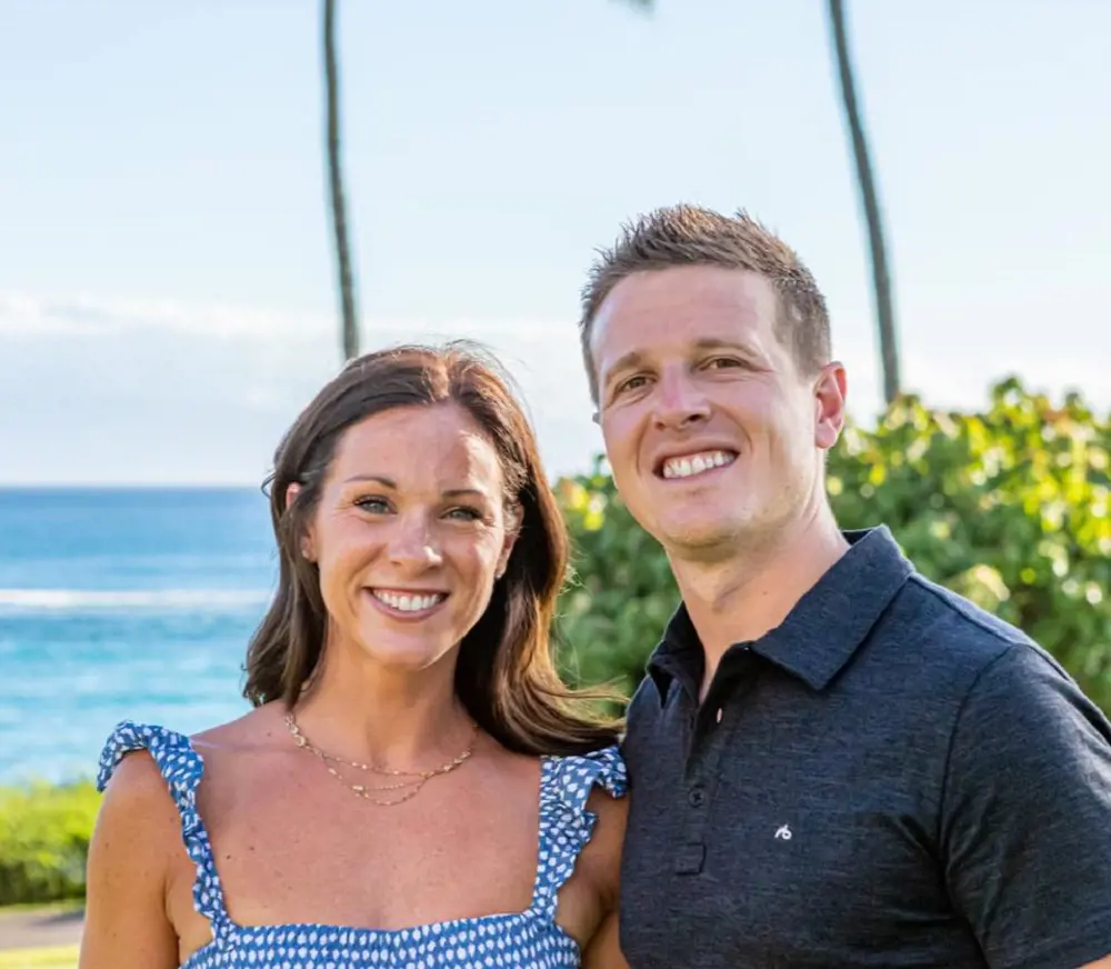
[[[828,488],[843,528],[888,525],[929,578],[1024,629],[1111,711],[1111,424],[1010,379],[982,413],[898,399],[847,429]],[[678,602],[667,559],[601,467],[559,483],[577,548],[563,668],[628,691]]]

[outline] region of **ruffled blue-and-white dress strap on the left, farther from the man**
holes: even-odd
[[[166,727],[124,720],[104,743],[97,789],[103,791],[120,761],[137,750],[146,750],[153,758],[166,780],[181,818],[181,840],[197,866],[193,907],[211,923],[213,938],[220,939],[231,922],[224,910],[223,889],[217,875],[212,846],[197,810],[197,787],[204,773],[204,762],[184,735]]]

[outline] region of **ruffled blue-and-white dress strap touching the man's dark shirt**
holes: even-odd
[[[594,787],[615,798],[629,789],[624,760],[617,747],[587,755],[544,758],[540,780],[540,857],[533,910],[554,919],[559,891],[574,871],[598,816],[587,809]]]

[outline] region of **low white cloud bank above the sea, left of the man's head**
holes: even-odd
[[[370,320],[367,348],[470,338],[504,360],[549,468],[600,446],[573,326]],[[0,481],[257,482],[341,364],[326,314],[0,294]]]

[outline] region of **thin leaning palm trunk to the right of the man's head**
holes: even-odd
[[[880,357],[883,363],[883,397],[890,404],[899,396],[899,349],[895,342],[895,319],[891,299],[891,279],[888,273],[888,257],[883,244],[883,224],[880,203],[872,179],[872,166],[868,157],[868,141],[864,126],[857,104],[857,90],[852,79],[852,59],[844,26],[843,0],[829,0],[830,29],[837,51],[838,73],[841,78],[841,98],[844,117],[852,137],[852,153],[857,161],[857,183],[864,207],[868,223],[868,241],[872,254],[872,282],[875,288],[875,320],[880,331]]]

